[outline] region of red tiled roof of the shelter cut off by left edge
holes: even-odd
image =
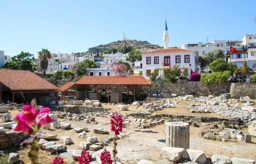
[[[0,83],[11,90],[58,90],[58,87],[28,70],[0,69]]]

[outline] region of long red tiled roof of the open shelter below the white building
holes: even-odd
[[[142,75],[127,76],[83,76],[76,84],[150,85]]]

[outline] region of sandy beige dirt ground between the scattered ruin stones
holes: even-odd
[[[190,103],[198,103],[192,101],[178,101],[175,108],[166,108],[160,111],[156,111],[155,113],[166,113],[166,114],[182,114],[182,115],[205,115],[205,116],[213,116],[213,117],[225,117],[220,116],[214,113],[191,113],[188,105]],[[128,111],[120,111],[119,108],[116,108],[116,105],[106,104],[103,105],[104,108],[111,108],[110,111],[115,112],[118,111],[123,115],[127,115],[133,112],[137,112],[139,110],[144,110],[143,107],[139,106],[138,108],[129,106]],[[17,110],[11,110],[10,113],[14,116],[18,113]],[[165,124],[160,124],[151,128],[140,129],[137,127],[136,123],[133,120],[133,117],[129,117],[131,119],[131,125],[124,127],[121,135],[124,137],[117,141],[117,156],[120,158],[122,163],[133,164],[137,163],[140,159],[148,159],[152,161],[157,161],[160,159],[160,151],[161,147],[165,146]],[[58,119],[61,120],[61,119]],[[78,126],[87,126],[88,134],[96,135],[98,140],[103,140],[107,138],[113,133],[110,131],[109,118],[105,117],[95,117],[95,120],[98,124],[94,123],[84,123],[83,121],[66,121],[61,120],[60,123],[63,124],[65,122],[71,123],[71,128],[75,128]],[[149,120],[147,120],[149,121]],[[147,122],[149,123],[149,122]],[[242,158],[250,158],[256,160],[256,138],[252,137],[252,143],[244,143],[244,142],[222,142],[204,139],[200,136],[199,132],[203,128],[203,124],[200,127],[192,127],[190,126],[190,148],[202,150],[205,152],[207,157],[211,157],[213,154],[222,154],[227,155],[229,157],[242,157]],[[94,128],[104,127],[109,131],[109,134],[95,134],[93,132]],[[61,136],[70,136],[73,144],[67,145],[67,151],[72,151],[72,149],[78,149],[79,142],[86,141],[84,138],[79,138],[78,133],[76,133],[73,129],[70,130],[62,130],[62,129],[54,129],[51,126],[50,130],[42,129],[46,133],[57,134],[57,143],[62,143]],[[245,133],[246,129],[243,130]],[[112,144],[110,143],[107,146],[108,150],[111,150]],[[25,163],[28,163],[28,158],[26,156],[27,148],[18,149],[17,151],[20,153],[20,160],[23,160]],[[13,149],[6,149],[4,152],[11,152]],[[91,152],[92,153],[92,152]],[[39,151],[39,161],[41,163],[51,163],[54,158],[54,154],[50,154],[45,150]],[[77,163],[74,162],[71,158],[65,158],[65,163]]]

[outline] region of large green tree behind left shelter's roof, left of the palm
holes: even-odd
[[[10,61],[6,62],[2,68],[34,71],[34,61],[33,54],[21,51],[19,54],[11,57]]]

